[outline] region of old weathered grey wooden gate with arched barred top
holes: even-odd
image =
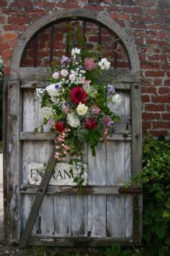
[[[39,40],[41,33],[49,29],[48,59],[52,61],[57,40],[55,25],[71,22],[71,19],[82,22],[84,34],[92,24],[93,33],[96,33],[93,36],[98,43],[102,45],[105,40],[105,53],[109,51],[107,41],[114,36],[113,67],[100,79],[114,82],[117,92],[122,95],[121,106],[115,109],[121,121],[114,125],[110,143],[100,143],[96,158],[87,148],[88,185],[82,196],[76,195],[76,187],[48,185],[49,165],[46,179],[40,186],[28,182],[29,164],[48,163],[54,139],[48,132],[36,135],[32,132],[40,121],[40,103],[35,97],[35,88],[47,85],[43,82],[46,71],[40,63],[43,51],[39,59],[37,56]],[[105,31],[105,39],[102,39],[102,31]],[[57,36],[63,33],[62,30]],[[33,47],[33,67],[23,64],[29,43]],[[128,61],[118,61],[119,47],[125,51]],[[103,12],[83,9],[53,12],[27,28],[14,50],[11,74],[4,86],[4,205],[9,242],[20,241],[22,247],[25,244],[109,246],[113,242],[140,243],[141,189],[133,184],[125,187],[125,182],[130,182],[131,177],[141,170],[139,71],[138,54],[132,39]]]

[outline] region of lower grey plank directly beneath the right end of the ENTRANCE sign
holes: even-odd
[[[71,196],[71,234],[87,235],[87,196]]]

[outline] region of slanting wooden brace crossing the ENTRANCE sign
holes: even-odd
[[[19,247],[25,247],[27,245],[27,241],[29,239],[30,233],[35,223],[35,219],[37,218],[38,211],[42,204],[42,200],[44,198],[46,189],[48,187],[48,183],[50,181],[50,176],[53,172],[53,168],[56,164],[56,160],[54,158],[54,152],[52,151],[50,155],[50,159],[48,161],[48,165],[45,171],[44,176],[42,177],[42,182],[39,186],[39,193],[35,196],[35,201],[32,205],[32,209],[30,211],[30,216],[27,219],[27,223],[25,229],[22,233],[21,239],[19,241]]]

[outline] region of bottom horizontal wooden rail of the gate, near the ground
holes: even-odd
[[[91,238],[84,236],[73,237],[58,237],[58,236],[31,236],[28,245],[43,245],[43,246],[71,246],[71,247],[110,247],[114,243],[119,243],[122,246],[133,246],[133,239],[125,237],[102,237]]]

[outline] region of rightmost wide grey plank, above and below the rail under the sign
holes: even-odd
[[[125,142],[107,145],[107,185],[125,182]],[[107,195],[107,236],[125,236],[125,196]]]

